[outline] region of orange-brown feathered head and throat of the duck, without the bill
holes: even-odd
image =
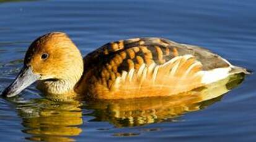
[[[41,59],[44,53],[48,54],[47,59]],[[69,88],[74,88],[83,72],[81,53],[64,33],[50,33],[35,40],[25,55],[24,64],[32,66],[33,73],[41,75],[43,81],[38,81],[38,88],[46,93],[66,93]],[[45,81],[55,78],[61,80],[66,89],[55,90],[54,83]]]

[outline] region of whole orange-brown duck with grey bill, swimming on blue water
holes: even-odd
[[[46,98],[133,99],[171,96],[250,72],[208,49],[165,38],[131,38],[104,44],[84,58],[63,32],[33,41],[24,65],[2,96],[37,82]]]

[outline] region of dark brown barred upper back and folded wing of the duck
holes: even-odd
[[[95,65],[105,65],[112,61],[112,59],[121,52],[126,52],[127,54],[129,49],[133,49],[133,51],[135,51],[135,48],[139,48],[138,52],[135,51],[135,57],[126,56],[123,61],[131,59],[136,63],[136,56],[139,56],[143,58],[144,62],[146,62],[146,54],[142,50],[144,47],[148,49],[147,54],[152,54],[152,61],[159,65],[170,61],[170,59],[175,56],[192,54],[199,62],[201,62],[201,64],[203,64],[203,70],[229,67],[229,64],[226,61],[208,49],[188,44],[179,44],[164,38],[133,38],[107,43],[84,57],[84,67],[88,67],[90,69]],[[122,68],[128,69],[126,64],[120,65],[121,67],[119,67],[119,70]]]

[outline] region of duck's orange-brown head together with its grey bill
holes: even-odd
[[[62,94],[73,91],[83,72],[79,50],[65,33],[40,36],[29,46],[24,66],[3,95],[12,97],[35,81],[45,93]]]

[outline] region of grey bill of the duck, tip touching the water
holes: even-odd
[[[11,85],[2,92],[2,95],[8,98],[16,96],[39,78],[40,75],[33,73],[31,67],[23,67]]]

